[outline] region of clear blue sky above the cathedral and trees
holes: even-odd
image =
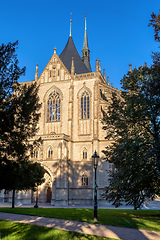
[[[84,17],[87,13],[87,31],[91,67],[95,71],[96,58],[114,87],[120,89],[120,80],[131,62],[138,67],[151,64],[152,51],[158,51],[154,33],[148,27],[152,12],[158,13],[159,0],[7,0],[0,1],[0,41],[18,40],[20,66],[26,66],[21,81],[34,79],[36,63],[39,74],[57,48],[59,55],[69,37],[72,12],[72,37],[81,55],[84,37]]]

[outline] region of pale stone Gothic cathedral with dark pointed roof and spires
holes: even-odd
[[[71,25],[71,22],[70,22]],[[109,163],[102,150],[110,144],[105,140],[102,118],[113,91],[100,61],[95,71],[90,66],[86,19],[82,57],[76,50],[71,35],[58,56],[56,48],[39,76],[36,66],[35,80],[39,85],[42,103],[39,132],[42,144],[34,149],[32,161],[45,169],[45,182],[38,188],[38,201],[55,206],[92,205],[94,198],[94,168],[92,155],[100,156],[97,168],[98,205],[106,205],[102,198],[108,184]],[[30,84],[30,82],[27,82]],[[31,140],[32,141],[32,140]],[[0,193],[2,197],[2,192]],[[34,203],[36,193],[17,193],[17,201]],[[5,199],[9,195],[5,194]],[[6,200],[7,201],[7,200]]]

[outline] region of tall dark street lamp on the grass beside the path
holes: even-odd
[[[94,221],[97,222],[97,166],[98,166],[98,159],[99,156],[97,155],[97,152],[95,151],[93,156],[93,166],[94,166],[94,181],[95,181],[95,189],[94,189]]]

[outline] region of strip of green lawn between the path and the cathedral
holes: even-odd
[[[19,213],[93,223],[93,209],[0,208],[0,212]],[[160,211],[98,209],[98,223],[119,227],[160,231]]]

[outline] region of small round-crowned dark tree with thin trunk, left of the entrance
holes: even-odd
[[[44,169],[37,162],[9,160],[7,164],[1,164],[0,182],[2,188],[12,190],[12,208],[15,205],[15,190],[36,191],[37,186],[43,183],[43,176]]]

